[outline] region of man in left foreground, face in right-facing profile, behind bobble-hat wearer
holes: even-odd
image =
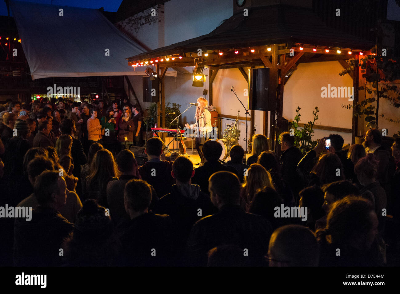
[[[66,183],[57,171],[45,171],[35,181],[39,206],[31,220],[16,218],[14,266],[59,266],[61,244],[74,228],[58,209],[65,205]]]

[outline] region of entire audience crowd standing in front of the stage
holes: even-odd
[[[202,145],[194,168],[158,137],[142,146],[138,105],[11,101],[0,112],[1,264],[14,266],[383,266],[398,256],[400,139],[370,129],[342,150],[338,134],[302,154],[289,132],[281,154],[262,134]],[[325,140],[331,147],[326,150]],[[277,208],[306,215],[277,214]],[[293,209],[294,208],[294,209]],[[398,252],[394,250],[394,252]],[[396,259],[397,258],[397,259]]]

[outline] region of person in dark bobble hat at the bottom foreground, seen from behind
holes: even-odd
[[[76,216],[72,235],[64,241],[68,266],[110,266],[116,256],[110,215],[96,200],[88,199]]]

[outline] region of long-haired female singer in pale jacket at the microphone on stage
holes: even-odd
[[[206,107],[207,100],[203,97],[199,97],[197,99],[196,115],[194,116],[196,123],[192,125],[185,124],[186,128],[196,129],[197,131],[196,150],[200,156],[201,164],[204,164],[204,156],[202,152],[203,144],[207,140],[207,133],[212,130],[211,114]]]

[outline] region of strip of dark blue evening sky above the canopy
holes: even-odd
[[[62,6],[75,6],[84,8],[104,7],[105,11],[116,12],[122,0],[24,0],[24,2],[36,2],[44,4],[54,4]],[[0,15],[7,15],[7,6],[4,0],[0,0]],[[10,11],[12,16],[12,12]]]

